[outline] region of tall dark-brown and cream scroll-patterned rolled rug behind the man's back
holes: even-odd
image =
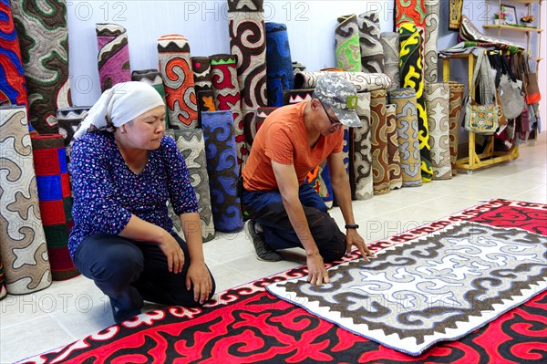
[[[230,53],[237,55],[237,81],[242,98],[243,121],[234,123],[241,164],[249,154],[243,125],[253,120],[257,108],[268,106],[263,0],[228,1],[228,26]]]

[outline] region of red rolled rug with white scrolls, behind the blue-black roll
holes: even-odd
[[[233,130],[237,151],[237,163],[242,165],[249,155],[245,140],[245,122],[243,120],[242,95],[237,79],[237,57],[232,55],[214,55],[211,57],[211,82],[217,110],[232,110]],[[254,114],[253,114],[254,115]]]

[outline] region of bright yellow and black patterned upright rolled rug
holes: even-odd
[[[416,109],[418,110],[418,140],[421,158],[421,176],[423,182],[430,182],[433,176],[431,151],[429,151],[428,112],[424,94],[423,78],[423,30],[410,23],[399,28],[400,40],[400,81],[403,88],[416,91]]]

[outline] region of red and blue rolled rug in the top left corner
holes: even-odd
[[[26,98],[26,80],[23,62],[21,60],[21,47],[15,32],[9,0],[0,0],[0,105],[28,106]]]

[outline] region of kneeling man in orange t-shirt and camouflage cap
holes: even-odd
[[[243,168],[243,204],[251,220],[247,230],[256,255],[265,261],[283,259],[276,250],[304,247],[308,282],[328,283],[324,259],[340,259],[356,245],[372,256],[357,233],[349,180],[342,157],[343,125],[360,127],[356,88],[327,74],[317,81],[311,101],[276,109],[256,133]],[[336,201],[346,221],[346,234],[327,213],[323,199],[306,174],[328,162]]]

